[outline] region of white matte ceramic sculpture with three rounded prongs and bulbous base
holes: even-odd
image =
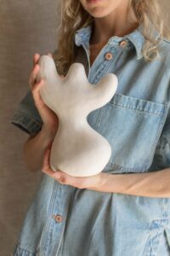
[[[51,169],[74,177],[102,172],[111,157],[111,145],[88,125],[87,116],[114,96],[116,75],[108,73],[98,84],[90,84],[81,63],[73,63],[64,78],[50,56],[42,55],[38,64],[37,81],[44,79],[40,95],[59,118],[49,158]]]

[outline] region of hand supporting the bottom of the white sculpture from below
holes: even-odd
[[[92,189],[97,191],[104,191],[104,184],[106,178],[110,174],[105,172],[99,172],[99,174],[89,177],[73,177],[65,172],[54,172],[49,166],[49,156],[51,148],[46,148],[42,163],[42,172],[48,174],[50,177],[54,177],[61,184],[71,185],[78,189]]]

